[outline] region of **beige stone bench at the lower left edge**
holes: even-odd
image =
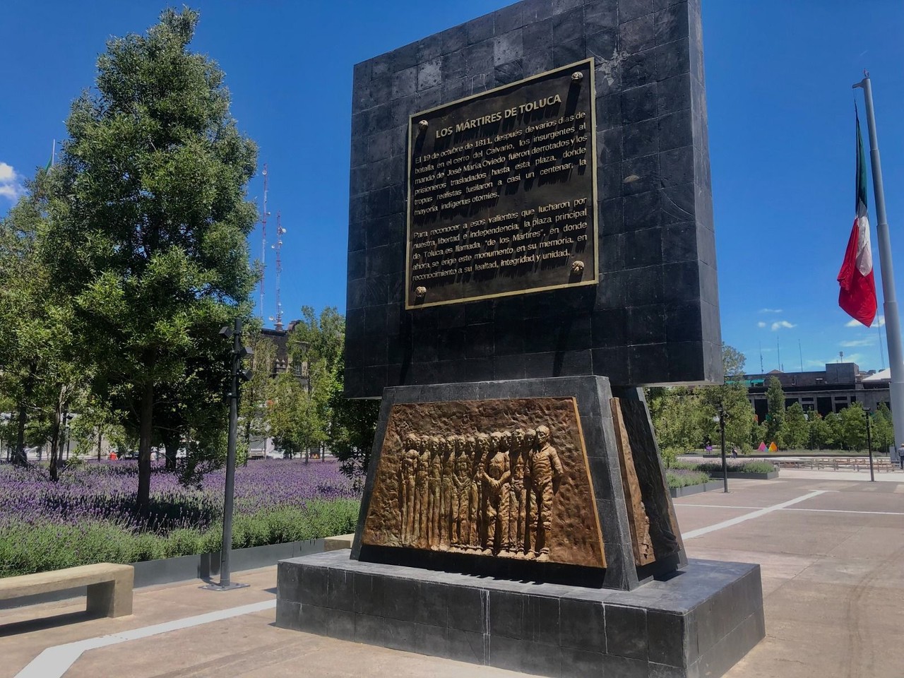
[[[132,614],[134,579],[135,568],[131,565],[99,562],[0,579],[0,600],[84,586],[88,588],[89,613],[124,617]]]

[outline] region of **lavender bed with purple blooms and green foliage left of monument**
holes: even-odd
[[[66,469],[0,466],[0,577],[89,562],[218,551],[224,472],[197,486],[156,467],[151,511],[137,514],[134,461]],[[239,466],[233,548],[352,532],[358,495],[333,462],[268,459]]]

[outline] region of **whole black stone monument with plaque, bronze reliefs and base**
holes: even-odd
[[[721,379],[699,0],[523,0],[355,66],[351,557],[279,626],[541,675],[720,675],[757,565],[688,560],[642,386]]]

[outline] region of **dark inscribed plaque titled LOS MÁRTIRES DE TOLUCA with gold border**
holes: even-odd
[[[409,121],[406,308],[598,280],[593,60]]]

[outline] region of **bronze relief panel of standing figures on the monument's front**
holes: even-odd
[[[393,405],[362,541],[606,567],[577,403]]]

